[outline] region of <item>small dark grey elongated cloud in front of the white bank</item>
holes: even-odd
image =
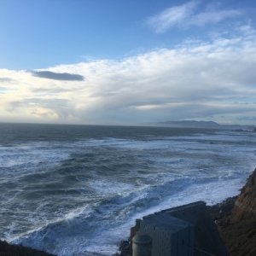
[[[75,73],[54,73],[51,71],[32,71],[33,76],[42,79],[53,79],[61,81],[83,81],[84,77]]]

